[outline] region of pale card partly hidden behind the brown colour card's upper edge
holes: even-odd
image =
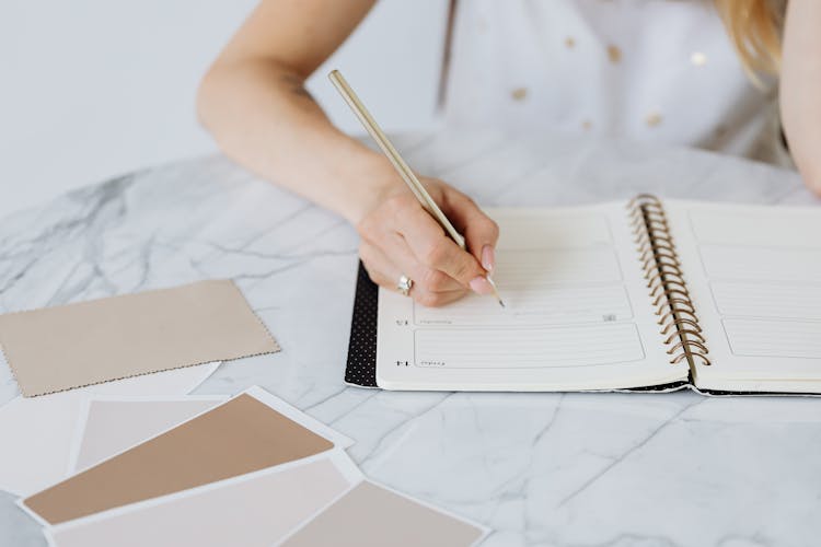
[[[71,472],[86,469],[189,420],[224,398],[91,400]]]

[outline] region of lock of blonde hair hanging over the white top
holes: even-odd
[[[727,34],[750,75],[778,74],[786,0],[715,0]]]

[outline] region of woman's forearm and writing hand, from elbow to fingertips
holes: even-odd
[[[218,60],[199,90],[200,119],[229,156],[355,223],[360,257],[383,288],[397,290],[397,280],[409,276],[408,295],[424,305],[442,305],[470,290],[494,291],[486,278],[499,235],[493,220],[467,196],[426,181],[464,230],[467,251],[460,248],[384,156],[331,125],[300,72],[267,57],[253,59],[258,57]]]

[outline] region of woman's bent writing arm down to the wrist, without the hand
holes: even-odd
[[[373,207],[384,162],[331,125],[304,81],[373,3],[263,1],[213,62],[197,97],[200,120],[226,154],[354,222]]]

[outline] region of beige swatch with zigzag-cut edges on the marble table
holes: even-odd
[[[279,350],[230,280],[0,315],[24,396]]]

